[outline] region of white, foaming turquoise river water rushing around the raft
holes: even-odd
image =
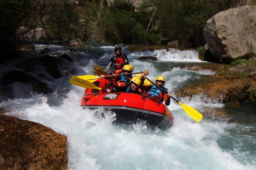
[[[68,53],[62,46],[33,44],[39,53]],[[93,75],[94,65],[107,65],[113,55],[114,44],[91,43],[91,47],[77,49],[82,56],[69,69],[78,75]],[[172,96],[184,85],[203,81],[213,75],[212,70],[181,69],[198,60],[196,50],[175,49],[131,52],[122,45],[134,72],[149,70],[148,78],[162,75],[165,87]],[[139,56],[154,56],[156,61],[137,60]],[[26,58],[25,57],[25,58]],[[1,72],[13,69],[17,61],[1,66]],[[210,64],[210,63],[207,63]],[[38,68],[38,73],[43,69]],[[189,117],[174,100],[168,108],[174,117],[169,130],[150,130],[144,122],[133,125],[112,125],[115,114],[101,109],[82,109],[80,101],[84,88],[71,85],[71,74],[54,80],[44,80],[54,91],[43,95],[30,92],[24,84],[10,85],[12,99],[1,98],[0,107],[6,115],[31,120],[52,128],[68,138],[69,170],[255,170],[256,169],[256,113],[255,106],[243,103],[228,106],[198,95],[181,98],[183,104],[203,114],[200,123]],[[95,117],[103,113],[105,117]]]

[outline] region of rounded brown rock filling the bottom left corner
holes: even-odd
[[[67,140],[28,120],[0,115],[1,169],[67,169]]]

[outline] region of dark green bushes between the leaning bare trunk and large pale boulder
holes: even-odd
[[[236,3],[235,0],[161,0],[156,13],[160,33],[170,41],[178,40],[183,46],[203,45],[207,20]]]

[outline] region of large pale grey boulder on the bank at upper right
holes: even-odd
[[[230,63],[255,52],[255,30],[256,6],[249,5],[217,13],[203,29],[210,53],[222,63]]]

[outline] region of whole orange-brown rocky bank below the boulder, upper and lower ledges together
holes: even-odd
[[[255,58],[251,62],[255,63]],[[184,69],[212,70],[214,75],[209,75],[200,83],[190,84],[177,90],[178,98],[201,94],[216,102],[221,103],[256,103],[256,65],[250,69],[243,64],[231,67],[229,64],[191,64]],[[202,95],[203,94],[203,95]]]

